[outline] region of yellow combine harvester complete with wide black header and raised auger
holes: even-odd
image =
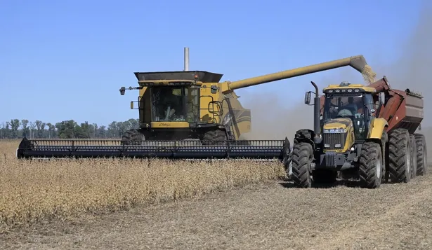
[[[219,82],[221,74],[208,71],[136,72],[139,90],[139,128],[122,140],[23,139],[18,158],[254,158],[278,159],[287,166],[287,138],[242,140],[251,130],[251,111],[244,109],[234,90],[318,71],[351,66],[364,73],[362,55],[313,64],[240,81]],[[126,88],[120,88],[124,95]],[[134,109],[131,102],[131,109]]]

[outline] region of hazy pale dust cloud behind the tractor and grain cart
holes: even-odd
[[[379,78],[387,76],[392,88],[400,90],[410,88],[414,92],[421,92],[425,97],[422,131],[427,134],[428,144],[431,144],[432,113],[429,107],[432,105],[432,97],[429,97],[429,92],[432,92],[432,83],[428,83],[428,79],[431,78],[429,69],[432,67],[432,5],[427,2],[426,5],[421,8],[418,23],[412,34],[401,34],[400,36],[402,39],[407,37],[399,50],[402,51],[402,56],[390,65],[375,65],[374,62],[368,62],[373,70],[367,67],[363,72],[363,78],[367,84],[376,80],[378,73]],[[377,39],[377,43],[382,43],[382,39]],[[322,82],[318,84],[320,90],[329,82],[332,84],[338,82],[334,80],[336,79],[320,81]],[[346,80],[349,81],[349,78]],[[310,87],[310,90],[313,90],[312,86]],[[269,101],[269,99],[261,98],[262,96],[272,97],[272,99]],[[313,129],[313,106],[303,104],[302,101],[292,102],[277,99],[271,92],[260,93],[259,97],[254,97],[252,94],[250,99],[253,102],[244,103],[244,106],[251,109],[252,131],[245,134],[244,139],[284,139],[287,137],[292,141],[296,130]]]

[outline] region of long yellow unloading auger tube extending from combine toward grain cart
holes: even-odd
[[[272,81],[279,81],[287,78],[292,78],[296,76],[303,76],[306,74],[312,74],[319,71],[326,71],[329,69],[336,69],[340,67],[351,66],[360,73],[364,73],[367,62],[363,55],[356,55],[353,57],[346,57],[339,60],[333,60],[329,62],[322,62],[320,64],[313,64],[306,67],[299,67],[296,69],[289,69],[286,71],[280,71],[273,74],[267,74],[264,76],[256,76],[252,78],[243,79],[240,81],[227,82],[228,90],[224,92],[232,92],[240,88],[246,88],[252,85],[258,85],[262,83],[268,83]]]

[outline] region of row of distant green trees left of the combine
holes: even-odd
[[[107,126],[89,122],[78,124],[74,120],[44,123],[41,120],[32,122],[26,119],[11,119],[8,122],[0,123],[0,139],[23,137],[28,139],[119,138],[126,130],[138,127],[138,119],[129,119],[124,122],[113,121]]]

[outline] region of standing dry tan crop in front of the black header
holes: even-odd
[[[278,162],[18,160],[19,141],[0,141],[0,227],[98,214],[285,176]]]

